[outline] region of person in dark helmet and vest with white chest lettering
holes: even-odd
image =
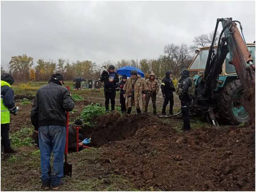
[[[109,100],[111,102],[111,111],[114,111],[115,98],[116,98],[116,84],[119,82],[119,78],[117,73],[115,72],[114,65],[110,65],[108,67],[108,73],[109,73],[108,79],[101,77],[101,81],[104,81],[106,112],[108,112]]]

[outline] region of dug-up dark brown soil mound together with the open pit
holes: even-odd
[[[92,144],[104,151],[103,167],[130,177],[136,188],[255,191],[254,129],[201,127],[180,133],[172,128],[175,120],[163,123],[147,114],[97,120]]]

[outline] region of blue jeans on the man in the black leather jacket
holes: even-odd
[[[63,157],[66,142],[65,126],[40,126],[41,180],[43,185],[58,186],[63,177]],[[50,156],[53,151],[53,171]]]

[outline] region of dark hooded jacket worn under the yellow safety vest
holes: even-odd
[[[10,85],[14,84],[15,82],[13,77],[7,73],[4,73],[1,75],[1,81],[5,81]],[[15,107],[14,91],[12,90],[11,87],[7,85],[1,86],[1,97],[5,107],[7,107],[8,109],[12,109]]]

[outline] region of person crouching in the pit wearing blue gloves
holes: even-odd
[[[82,119],[76,119],[75,123],[73,123],[71,126],[69,126],[69,134],[68,134],[68,150],[69,152],[75,152],[76,151],[76,129],[79,128],[79,130],[82,129]],[[82,134],[78,134],[78,150],[81,151],[83,148],[82,144]]]

